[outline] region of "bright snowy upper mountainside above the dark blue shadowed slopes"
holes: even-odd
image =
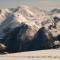
[[[54,13],[52,13],[54,12]],[[5,28],[15,28],[21,23],[26,23],[30,26],[36,26],[37,29],[42,26],[48,28],[48,26],[54,24],[53,17],[60,17],[59,9],[53,9],[51,11],[42,10],[36,7],[20,6],[11,9],[0,10],[0,32],[3,32]],[[49,13],[52,13],[51,15]],[[59,23],[57,25],[60,25]]]

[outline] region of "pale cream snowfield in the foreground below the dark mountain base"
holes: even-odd
[[[39,60],[39,59],[60,59],[60,50],[58,49],[50,49],[50,50],[38,50],[38,51],[30,51],[30,52],[21,52],[21,53],[13,53],[13,54],[5,54],[0,55],[0,60]]]

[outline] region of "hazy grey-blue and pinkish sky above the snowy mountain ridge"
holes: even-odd
[[[39,8],[60,8],[60,0],[0,0],[0,8],[15,8],[21,5]]]

